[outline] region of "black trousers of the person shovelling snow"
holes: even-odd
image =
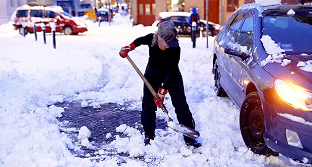
[[[158,88],[165,82],[167,72],[165,70],[154,69],[153,67],[147,65],[144,76],[157,92]],[[174,80],[171,81],[170,86],[168,87],[168,93],[170,94],[172,105],[175,108],[175,113],[179,123],[195,129],[195,121],[192,117],[191,111],[189,110],[186,97],[184,95],[184,85],[180,71],[176,76],[174,76]],[[156,129],[155,112],[157,111],[157,106],[155,105],[153,98],[152,93],[144,84],[141,123],[143,125],[145,135],[149,136],[153,136]],[[184,136],[184,139],[188,140],[189,138]]]

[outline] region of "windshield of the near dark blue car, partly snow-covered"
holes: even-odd
[[[263,17],[262,23],[263,34],[271,36],[286,54],[312,54],[312,14],[272,14]]]

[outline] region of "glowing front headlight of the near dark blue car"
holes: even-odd
[[[275,91],[278,96],[295,108],[312,111],[312,93],[294,83],[276,79]]]

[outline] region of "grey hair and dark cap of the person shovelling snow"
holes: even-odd
[[[178,38],[178,32],[171,21],[164,21],[158,25],[158,30],[153,36],[152,47],[158,42],[157,35],[163,38],[166,43]]]

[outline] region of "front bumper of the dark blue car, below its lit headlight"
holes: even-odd
[[[283,101],[271,101],[270,107],[268,105],[263,107],[270,108],[270,110],[264,110],[266,113],[270,111],[270,114],[266,116],[266,132],[264,134],[266,144],[272,150],[287,157],[304,163],[312,163],[312,113],[295,109]],[[294,135],[290,135],[286,131],[292,132]],[[294,136],[299,139],[301,146],[291,142],[293,140],[290,138],[294,139]]]

